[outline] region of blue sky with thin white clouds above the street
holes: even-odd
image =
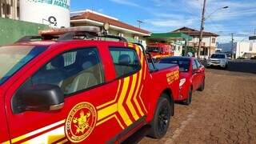
[[[200,27],[203,0],[110,1],[144,10],[147,15],[142,20],[145,22],[142,26],[152,32],[168,32],[182,26]],[[222,10],[223,6],[229,8]],[[256,25],[254,15],[255,0],[207,0],[205,30],[220,34],[219,42],[230,42],[232,32],[236,33],[235,41],[241,41],[248,30]]]

